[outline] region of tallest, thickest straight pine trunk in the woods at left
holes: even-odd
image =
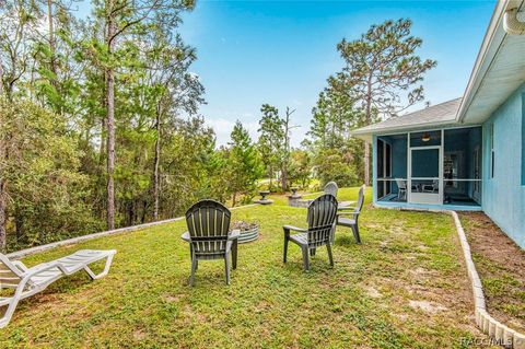
[[[113,36],[115,35],[115,19],[113,1],[108,1],[107,12],[107,49],[113,54]],[[115,229],[115,71],[112,63],[106,67],[106,114],[107,114],[107,229]]]

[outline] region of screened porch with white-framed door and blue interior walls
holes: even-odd
[[[376,202],[481,205],[481,127],[377,136],[374,146]]]

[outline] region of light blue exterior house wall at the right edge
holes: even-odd
[[[525,248],[525,84],[483,124],[482,208]],[[491,177],[490,129],[493,127],[494,176]]]

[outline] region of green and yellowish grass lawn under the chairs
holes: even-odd
[[[354,199],[358,188],[340,190]],[[369,193],[370,196],[370,193]],[[373,209],[362,213],[363,245],[338,229],[330,269],[325,248],[302,271],[300,248],[282,264],[282,224],[305,209],[279,198],[241,208],[259,241],[240,245],[232,284],[220,260],[201,261],[188,287],[185,222],[163,224],[24,259],[49,260],[79,248],[116,248],[110,274],[61,279],[22,301],[0,347],[124,348],[472,348],[472,301],[448,216]]]

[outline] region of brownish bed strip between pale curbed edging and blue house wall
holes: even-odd
[[[525,331],[525,252],[482,212],[459,214],[489,313]]]

